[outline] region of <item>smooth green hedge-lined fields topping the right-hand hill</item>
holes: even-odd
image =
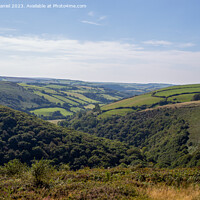
[[[147,108],[199,100],[200,84],[171,86],[103,106],[100,117],[125,115]],[[196,96],[196,99],[195,99]]]

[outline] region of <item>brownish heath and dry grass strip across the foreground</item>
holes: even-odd
[[[189,168],[61,170],[54,171],[40,187],[30,171],[16,176],[0,174],[0,200],[200,200],[198,172]]]

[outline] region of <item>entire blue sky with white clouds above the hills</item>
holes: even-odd
[[[200,83],[199,10],[199,0],[0,0],[0,75]]]

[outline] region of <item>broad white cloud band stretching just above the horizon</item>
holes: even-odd
[[[200,52],[147,51],[118,41],[0,37],[0,71],[7,76],[116,82],[199,82]]]

